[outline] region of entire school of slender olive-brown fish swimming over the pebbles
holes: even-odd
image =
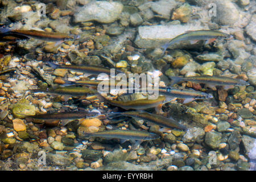
[[[57,32],[45,32],[45,31],[36,31],[36,30],[11,30],[9,28],[0,28],[0,41],[15,41],[17,39],[28,39],[35,38],[44,41],[50,42],[64,42],[70,39],[77,39],[79,36],[75,35],[67,35],[61,34]],[[199,40],[207,40],[206,44],[209,44],[216,40],[217,38],[230,38],[230,35],[225,34],[220,31],[212,31],[212,30],[198,30],[198,31],[189,31],[185,32],[172,39],[171,42],[167,43],[163,46],[164,53],[168,47],[173,44],[181,41],[191,41],[191,43],[195,43]],[[105,73],[106,75],[110,75],[109,68],[102,67],[91,67],[91,66],[77,66],[77,65],[59,65],[52,63],[51,61],[47,61],[47,64],[52,69],[68,69],[71,71],[82,72],[88,75],[99,75],[100,73]],[[10,69],[6,71],[15,71],[15,69]],[[123,73],[119,70],[115,70],[116,73]],[[1,73],[0,73],[1,74]],[[179,84],[185,81],[191,81],[199,84],[205,84],[210,86],[224,86],[224,89],[229,89],[230,86],[247,86],[249,83],[237,78],[224,77],[224,76],[193,76],[193,77],[170,77],[171,78],[171,86],[160,87],[158,88],[158,92],[160,96],[155,100],[150,100],[148,98],[136,101],[126,101],[123,102],[121,100],[110,100],[100,93],[97,92],[97,86],[100,84],[100,81],[91,81],[91,80],[82,80],[82,81],[68,81],[65,80],[65,84],[60,85],[58,88],[49,88],[49,89],[30,89],[31,93],[51,93],[57,95],[63,95],[68,97],[80,97],[86,95],[96,95],[106,104],[121,107],[126,110],[123,112],[111,112],[106,113],[106,117],[109,119],[116,117],[132,117],[137,119],[143,119],[143,121],[152,123],[154,125],[159,125],[161,127],[172,129],[177,128],[181,130],[187,130],[187,126],[181,125],[178,121],[173,118],[166,118],[163,115],[160,115],[159,112],[163,104],[175,100],[176,98],[183,99],[183,104],[187,104],[192,102],[193,100],[208,100],[213,98],[212,94],[208,94],[205,92],[196,91],[193,89],[185,89],[185,88],[176,88],[172,87],[175,84]],[[79,87],[76,85],[84,85],[83,87]],[[117,82],[114,82],[115,86]],[[108,86],[110,86],[110,82],[108,82]],[[141,89],[142,90],[142,89]],[[147,92],[152,90],[147,90]],[[135,90],[133,90],[135,93]],[[148,113],[144,111],[149,108],[155,108],[156,114]],[[73,119],[80,119],[85,117],[97,117],[97,113],[93,111],[69,111],[65,113],[48,113],[48,114],[38,114],[35,116],[27,116],[27,119],[43,120],[43,121],[51,121],[51,120],[60,120],[61,125],[65,125]],[[67,122],[68,121],[68,122]],[[154,140],[159,139],[160,136],[155,133],[149,133],[147,131],[133,131],[133,130],[106,130],[99,131],[97,133],[84,133],[84,137],[104,137],[104,138],[118,138],[124,140]]]

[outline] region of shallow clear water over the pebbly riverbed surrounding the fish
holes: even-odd
[[[255,7],[244,0],[0,1],[0,169],[255,171]],[[193,34],[199,30],[209,31]],[[121,78],[109,77],[110,68],[127,73],[119,76],[130,90],[141,85],[166,99],[121,96],[115,85]],[[131,73],[141,81],[128,79]],[[209,77],[174,83],[192,76]],[[102,96],[109,101],[96,90],[108,79],[113,82],[105,82],[110,89]],[[76,81],[90,81],[89,89]],[[61,84],[76,88],[57,92]],[[158,89],[166,86],[174,88]],[[98,116],[67,116],[79,110]],[[157,115],[108,117],[142,110]],[[66,115],[29,117],[47,113]],[[116,129],[160,138],[85,137]]]

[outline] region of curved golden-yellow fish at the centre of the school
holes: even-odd
[[[105,97],[101,96],[101,94],[98,94],[105,102],[109,103],[110,105],[121,107],[125,110],[135,109],[135,110],[143,110],[155,107],[156,112],[158,113],[160,109],[162,108],[162,105],[164,104],[164,101],[166,100],[165,96],[159,96],[155,100],[149,100],[148,98],[141,99],[141,100],[135,100],[135,101],[117,101],[117,100],[108,100]]]

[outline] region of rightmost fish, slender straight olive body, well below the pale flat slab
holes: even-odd
[[[229,88],[229,86],[247,86],[250,85],[248,82],[241,80],[241,79],[236,79],[232,77],[225,77],[225,76],[192,76],[192,77],[170,77],[172,80],[172,84],[174,85],[179,82],[184,82],[184,81],[191,81],[191,82],[196,82],[200,84],[207,84],[209,86],[214,86],[214,85],[221,85],[221,86],[226,86],[226,88]]]

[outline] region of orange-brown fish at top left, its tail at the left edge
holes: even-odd
[[[71,36],[60,32],[46,32],[38,30],[11,30],[9,28],[0,28],[1,36],[23,36],[27,38],[35,38],[49,42],[61,42],[66,40],[77,39],[79,36]]]

